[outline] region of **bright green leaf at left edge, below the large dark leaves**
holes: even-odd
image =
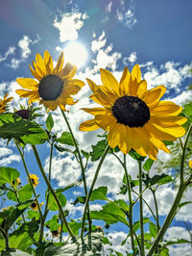
[[[0,185],[10,183],[18,178],[20,173],[12,167],[0,167]]]

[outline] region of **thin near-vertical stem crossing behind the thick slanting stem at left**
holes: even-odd
[[[51,142],[51,148],[50,148],[50,158],[49,158],[49,182],[51,181],[51,168],[52,168],[52,158],[53,158],[53,147],[54,147],[54,140]],[[38,243],[42,242],[43,239],[43,231],[44,231],[44,223],[45,219],[47,218],[47,215],[49,213],[48,209],[48,202],[49,202],[49,189],[47,191],[47,196],[46,196],[46,203],[45,203],[45,210],[43,214],[43,219],[40,223],[40,232],[39,232],[39,238],[38,238]]]

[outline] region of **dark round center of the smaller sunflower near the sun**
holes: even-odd
[[[48,75],[40,80],[38,93],[43,100],[56,100],[60,97],[63,88],[63,81],[59,76]]]

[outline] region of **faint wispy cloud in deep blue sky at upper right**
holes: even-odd
[[[137,22],[137,19],[131,9],[128,9],[127,12],[117,9],[116,13],[118,21],[125,24],[125,26],[130,29],[132,29]]]

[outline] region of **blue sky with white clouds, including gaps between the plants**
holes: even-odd
[[[192,67],[191,11],[191,0],[0,1],[0,96],[3,96],[6,91],[10,92],[14,97],[12,106],[18,108],[18,96],[14,90],[19,89],[19,86],[15,79],[32,77],[28,66],[35,60],[36,53],[42,55],[47,49],[54,61],[57,61],[60,51],[64,50],[65,58],[68,60],[66,46],[75,41],[78,42],[76,45],[78,53],[75,57],[79,57],[78,62],[83,62],[79,66],[77,77],[84,82],[88,77],[100,83],[100,67],[108,68],[117,79],[120,79],[125,65],[132,69],[132,66],[137,63],[141,66],[148,88],[162,84],[167,87],[165,98],[182,104],[192,97],[192,93],[186,91],[191,82],[189,70]],[[80,44],[84,47],[83,49],[79,48]],[[69,50],[68,56],[70,54]],[[89,141],[96,142],[98,140],[96,135],[102,134],[102,131],[84,134],[77,129],[78,125],[88,117],[79,111],[79,118],[77,118],[77,110],[87,107],[89,94],[90,91],[86,85],[77,95],[79,103],[69,107],[68,115],[78,140],[86,150],[90,149]],[[25,104],[25,100],[21,102]],[[54,118],[57,123],[55,132],[60,132],[60,128],[66,130],[59,111],[54,114]],[[12,144],[10,149],[7,149],[5,142],[0,141],[0,146],[0,164],[18,167],[22,170],[21,178],[26,180],[23,167]],[[46,167],[48,149],[43,151],[39,147],[39,152]],[[27,157],[31,172],[34,170],[39,176],[30,148]],[[168,157],[165,154],[159,154],[161,160]],[[114,164],[110,157],[108,161],[110,165],[106,164],[101,171],[97,186],[105,185],[108,180],[108,191],[117,192],[122,181],[123,170],[115,172],[115,167],[119,169],[119,166]],[[57,163],[57,168],[53,168],[54,185],[65,186],[79,177],[78,166],[69,156],[66,156],[63,164],[63,155],[55,152],[54,163]],[[132,161],[130,165],[131,174],[134,177],[137,169]],[[95,166],[94,164],[91,167],[95,168]],[[111,166],[114,167],[113,171],[110,171]],[[87,172],[88,184],[91,182],[92,175],[91,171]],[[38,190],[37,188],[37,192],[40,192]],[[74,193],[75,196],[76,192]],[[174,195],[175,192],[171,188],[164,188],[163,192],[159,192],[159,209],[162,216],[167,214],[165,206],[173,201]],[[189,197],[190,192],[187,192],[186,198]],[[150,195],[148,198],[152,201]],[[70,204],[68,207],[70,208]],[[79,209],[82,211],[81,207]],[[177,220],[192,221],[189,215],[191,210],[190,205],[183,207]],[[71,211],[74,211],[75,216],[77,208]],[[147,209],[146,213],[148,213]],[[184,234],[183,236],[187,236],[183,227],[178,227],[177,223],[176,221],[176,226],[173,227],[175,229],[172,228],[167,233],[168,237],[174,236],[173,234],[179,231],[180,234]],[[112,234],[114,239],[119,239],[118,236],[124,237],[123,233]],[[179,255],[185,253],[187,249],[187,246],[186,248],[178,247],[178,254],[174,248],[171,250],[173,255]]]

